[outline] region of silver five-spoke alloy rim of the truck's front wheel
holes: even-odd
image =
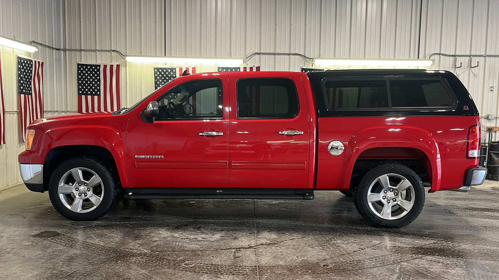
[[[62,175],[57,193],[67,209],[86,213],[99,206],[104,197],[104,186],[97,173],[88,168],[77,167]]]

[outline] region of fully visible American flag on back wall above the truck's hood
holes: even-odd
[[[78,63],[78,113],[111,113],[121,108],[120,65]]]

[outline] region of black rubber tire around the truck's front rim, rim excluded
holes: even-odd
[[[95,209],[85,213],[78,213],[68,209],[59,198],[59,181],[62,176],[73,168],[86,168],[95,172],[101,179],[99,188],[102,189],[100,204]],[[74,185],[76,186],[76,185]],[[48,196],[55,210],[65,218],[73,221],[91,221],[105,215],[117,201],[119,184],[112,170],[102,162],[89,157],[77,157],[62,162],[52,173],[48,183]]]

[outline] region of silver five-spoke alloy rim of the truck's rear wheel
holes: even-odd
[[[376,178],[367,192],[371,211],[385,220],[404,217],[412,209],[414,188],[409,180],[399,174],[384,174]]]

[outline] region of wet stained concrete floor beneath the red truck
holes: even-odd
[[[427,194],[402,229],[336,191],[312,201],[120,201],[59,216],[47,193],[0,192],[0,279],[499,279],[499,183]]]

